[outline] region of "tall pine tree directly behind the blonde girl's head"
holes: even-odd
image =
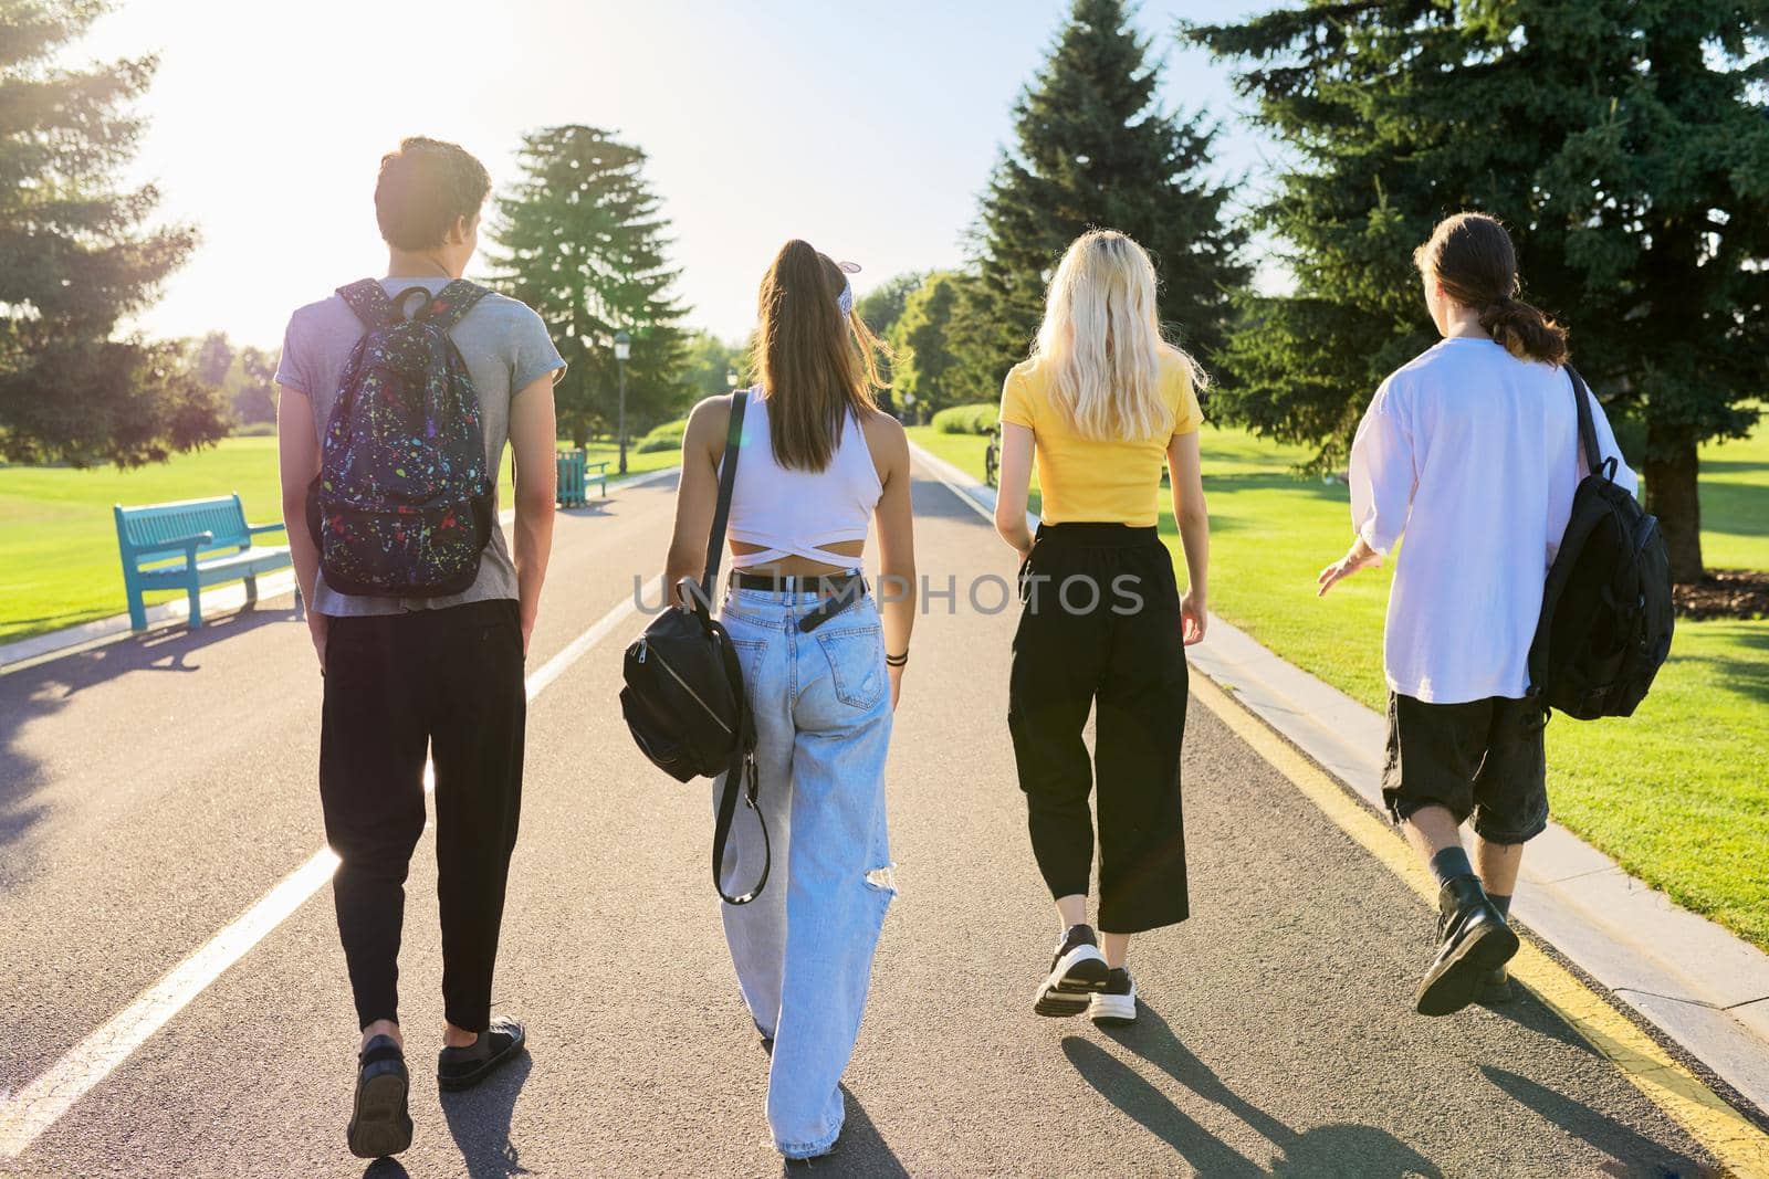
[[[1014,106],[975,228],[976,285],[964,300],[968,382],[999,391],[1026,357],[1063,249],[1088,228],[1139,240],[1160,278],[1160,315],[1205,359],[1242,286],[1244,232],[1224,219],[1228,187],[1203,177],[1217,127],[1157,101],[1123,0],[1076,0],[1044,69]]]

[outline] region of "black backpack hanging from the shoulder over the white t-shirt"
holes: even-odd
[[[1530,643],[1530,696],[1580,721],[1631,716],[1670,654],[1675,608],[1658,518],[1597,453],[1585,380],[1567,366],[1590,470],[1573,495]]]

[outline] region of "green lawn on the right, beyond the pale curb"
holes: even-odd
[[[984,440],[911,437],[982,475]],[[1314,597],[1352,539],[1346,490],[1300,479],[1300,451],[1206,428],[1210,606],[1286,659],[1380,709],[1390,571]],[[1702,453],[1702,543],[1712,567],[1769,569],[1769,431]],[[1037,509],[1037,504],[1033,504]],[[1178,557],[1171,513],[1162,534]],[[1175,560],[1180,578],[1182,560]],[[1670,663],[1629,719],[1548,728],[1555,817],[1665,889],[1769,949],[1769,619],[1677,624]]]

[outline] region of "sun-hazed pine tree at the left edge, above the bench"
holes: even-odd
[[[195,246],[150,228],[152,186],[115,187],[154,58],[62,69],[97,0],[0,0],[0,454],[133,467],[226,433],[179,343],[113,339]]]

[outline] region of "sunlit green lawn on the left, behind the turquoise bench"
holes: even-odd
[[[570,445],[561,442],[561,445]],[[596,442],[589,461],[609,460],[616,447]],[[628,472],[674,467],[676,451],[626,453]],[[0,642],[11,642],[122,613],[122,566],[111,504],[157,504],[239,491],[246,520],[281,516],[276,481],[276,438],[226,438],[195,454],[138,470],[99,467],[0,467]],[[509,453],[504,453],[499,498],[509,504]],[[281,537],[272,534],[271,543]],[[166,601],[179,594],[149,594]]]

